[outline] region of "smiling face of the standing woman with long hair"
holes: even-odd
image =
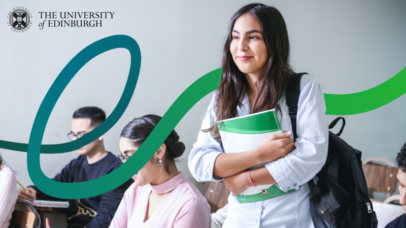
[[[261,24],[250,13],[239,17],[232,28],[230,52],[243,73],[259,75],[269,58]]]

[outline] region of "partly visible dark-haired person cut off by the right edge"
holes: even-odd
[[[396,178],[399,181],[399,194],[400,205],[403,206],[404,214],[395,218],[385,228],[406,228],[406,143],[400,148],[400,152],[397,154],[396,163],[399,167]]]

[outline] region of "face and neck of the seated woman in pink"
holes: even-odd
[[[122,156],[128,155],[131,157],[134,153],[136,153],[138,148],[139,147],[134,146],[128,138],[120,138],[120,153]],[[155,157],[157,157],[156,153],[154,154],[153,158]],[[147,164],[145,164],[144,167],[141,168],[141,170],[132,178],[138,186],[144,186],[156,180],[159,177],[159,174],[162,175],[162,172],[165,171],[159,171],[158,163],[155,164],[150,159]]]

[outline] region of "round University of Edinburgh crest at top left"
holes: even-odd
[[[8,13],[9,21],[8,26],[11,26],[11,30],[15,32],[27,31],[32,24],[32,14],[24,7],[13,8],[13,11]]]

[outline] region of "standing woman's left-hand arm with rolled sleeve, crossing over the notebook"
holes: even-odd
[[[215,96],[209,105],[200,129],[209,129],[216,123]],[[224,177],[240,173],[252,166],[275,161],[294,149],[291,132],[270,136],[261,146],[243,153],[225,154],[221,142],[209,132],[199,132],[197,142],[190,151],[188,166],[199,181],[221,181]]]

